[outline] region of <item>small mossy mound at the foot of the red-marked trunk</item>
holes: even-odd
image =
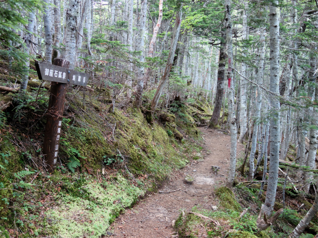
[[[220,204],[222,207],[235,210],[235,211],[241,211],[242,208],[235,199],[235,195],[231,189],[228,187],[219,187],[215,190],[215,194],[220,199]]]

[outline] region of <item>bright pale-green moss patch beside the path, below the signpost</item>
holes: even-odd
[[[145,194],[120,174],[102,183],[89,176],[77,178],[62,186],[63,191],[55,197],[57,204],[45,213],[46,219],[52,221],[46,233],[63,238],[99,238],[126,207]]]

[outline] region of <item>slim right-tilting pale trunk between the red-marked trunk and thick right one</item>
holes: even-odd
[[[261,37],[259,39],[261,43],[261,48],[259,52],[259,65],[257,71],[257,84],[263,84],[263,68],[264,68],[264,52],[265,52],[265,27],[261,28]],[[254,128],[253,128],[253,136],[252,136],[252,146],[250,150],[249,156],[249,171],[248,171],[248,180],[253,180],[254,178],[254,157],[256,152],[257,145],[257,134],[258,134],[258,124],[260,121],[260,108],[262,105],[262,93],[260,88],[256,88],[256,106],[255,106],[255,114],[254,114]],[[246,106],[246,105],[245,105]],[[242,115],[241,115],[242,116]],[[242,125],[241,125],[242,128]],[[258,151],[259,153],[260,151]]]

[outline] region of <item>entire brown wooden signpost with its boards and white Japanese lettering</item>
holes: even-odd
[[[50,174],[56,169],[66,85],[86,86],[89,79],[86,73],[68,69],[69,65],[64,59],[54,59],[54,64],[35,62],[39,79],[52,81],[43,143],[44,161]]]

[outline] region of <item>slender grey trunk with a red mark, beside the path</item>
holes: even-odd
[[[232,41],[232,21],[231,21],[231,0],[225,1],[226,10],[226,35],[228,48],[228,85],[229,85],[229,121],[231,131],[231,151],[230,151],[230,168],[227,186],[232,187],[235,178],[235,168],[237,163],[237,122],[235,118],[235,101],[234,101],[234,79],[233,79],[233,41]]]

